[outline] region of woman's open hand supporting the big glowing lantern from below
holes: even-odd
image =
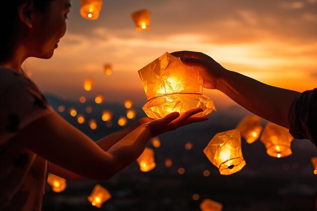
[[[208,120],[206,116],[193,116],[202,111],[203,109],[201,108],[194,108],[182,113],[181,115],[178,112],[173,112],[166,115],[163,118],[154,119],[152,121],[144,123],[141,126],[144,126],[147,129],[149,129],[151,131],[151,137],[155,137],[160,134],[166,133],[168,131],[176,130],[180,126],[183,126],[186,124]],[[143,120],[148,120],[148,119],[143,119]]]

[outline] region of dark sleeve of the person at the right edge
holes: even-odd
[[[290,108],[288,121],[294,138],[309,139],[317,146],[317,88],[297,97]]]

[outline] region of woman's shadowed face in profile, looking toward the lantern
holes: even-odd
[[[45,12],[35,12],[27,41],[31,57],[49,59],[66,32],[66,19],[70,0],[51,0]]]

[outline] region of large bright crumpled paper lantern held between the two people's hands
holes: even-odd
[[[179,58],[165,53],[139,70],[148,99],[142,107],[150,118],[161,118],[178,111],[202,108],[196,116],[216,110],[212,100],[203,95],[203,78],[199,71],[185,66]]]

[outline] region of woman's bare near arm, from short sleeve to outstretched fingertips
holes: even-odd
[[[57,176],[64,176],[68,180],[81,177],[107,180],[136,160],[151,137],[188,123],[206,120],[206,117],[191,117],[199,112],[201,109],[192,109],[181,116],[172,113],[144,123],[108,151],[104,151],[55,112],[27,125],[17,134],[16,140],[52,162],[50,168],[52,173],[59,172]]]

